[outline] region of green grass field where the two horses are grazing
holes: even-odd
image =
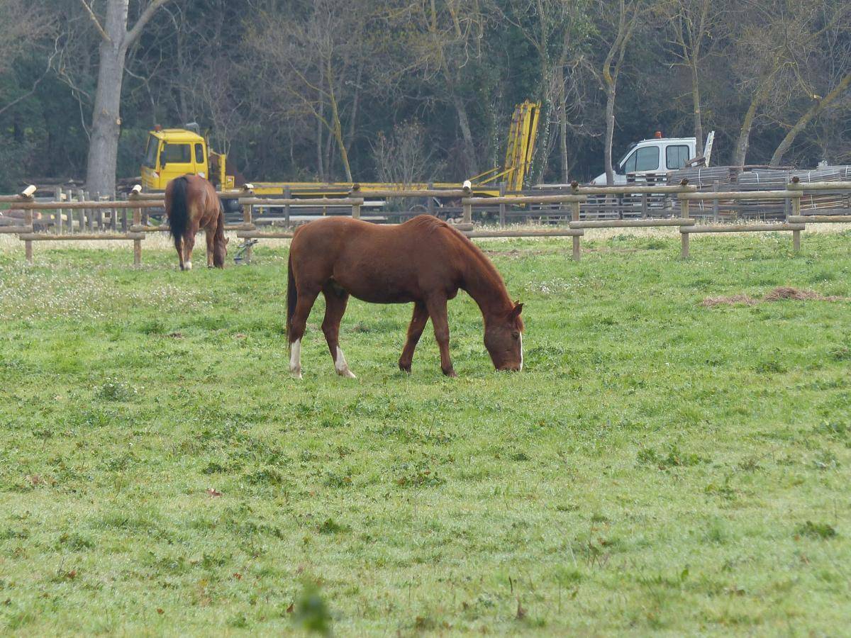
[[[0,633],[847,632],[851,303],[762,297],[851,297],[851,231],[480,245],[523,373],[461,294],[460,379],[431,326],[400,373],[410,307],[356,300],[340,379],[320,299],[295,382],[283,245],[7,243]]]

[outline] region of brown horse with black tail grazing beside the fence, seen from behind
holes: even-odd
[[[199,228],[207,236],[208,268],[225,267],[225,212],[212,184],[192,174],[172,179],[165,187],[165,214],[181,271],[192,270],[192,248]]]

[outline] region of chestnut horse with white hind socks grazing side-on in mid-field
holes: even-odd
[[[312,221],[295,231],[288,271],[289,369],[299,379],[301,338],[319,293],[325,296],[323,333],[340,376],[355,376],[338,342],[350,294],[374,304],[414,302],[399,367],[411,371],[414,348],[431,317],[440,367],[457,376],[449,358],[446,302],[459,288],[482,310],[484,345],[496,369],[523,368],[523,304],[511,302],[500,273],[473,242],[435,217],[388,226],[340,217]]]

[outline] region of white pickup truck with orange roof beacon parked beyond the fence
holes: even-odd
[[[626,174],[634,176],[638,182],[646,179],[648,174],[660,175],[668,171],[684,168],[694,159],[700,160],[701,166],[709,166],[712,153],[712,142],[715,131],[706,136],[703,158],[696,158],[697,142],[693,137],[658,137],[641,140],[630,146],[620,162],[614,165],[614,183],[626,184]],[[606,174],[597,175],[591,180],[591,185],[606,185]]]

